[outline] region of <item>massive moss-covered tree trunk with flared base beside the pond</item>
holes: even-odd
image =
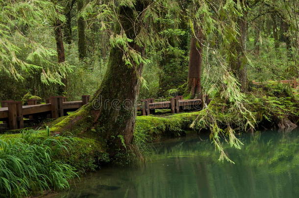
[[[138,0],[134,10],[140,13],[145,6]],[[140,25],[133,24],[138,21],[133,8],[121,6],[119,21],[120,24],[115,24],[116,33],[119,34],[122,28],[126,36],[134,40],[140,31]],[[144,47],[134,42],[129,44],[138,53],[144,53]],[[123,61],[123,55],[122,48],[114,46],[110,49],[105,77],[91,101],[58,123],[52,131],[70,131],[75,135],[86,134],[104,139],[108,153],[112,157],[130,145],[135,125],[142,64],[127,66]]]

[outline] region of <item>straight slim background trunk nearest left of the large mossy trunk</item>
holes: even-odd
[[[77,0],[78,9],[78,52],[79,59],[82,60],[86,57],[86,39],[85,39],[85,21],[81,15],[83,9],[83,0]]]

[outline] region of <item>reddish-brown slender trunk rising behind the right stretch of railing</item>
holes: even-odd
[[[201,96],[201,64],[202,64],[202,43],[203,33],[200,27],[196,30],[196,38],[191,38],[190,59],[188,72],[188,88],[191,98]]]

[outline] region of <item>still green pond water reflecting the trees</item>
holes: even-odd
[[[219,162],[207,137],[155,144],[142,166],[103,168],[55,198],[299,198],[299,130],[244,134],[235,162]],[[52,197],[52,196],[51,196]]]

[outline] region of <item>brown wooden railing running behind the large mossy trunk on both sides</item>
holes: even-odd
[[[22,129],[24,128],[24,118],[33,121],[37,118],[58,118],[67,114],[68,111],[75,111],[87,104],[90,100],[89,95],[82,95],[81,101],[67,102],[66,97],[54,96],[46,100],[47,104],[37,104],[37,100],[28,100],[28,105],[23,106],[21,101],[1,101],[0,121],[3,122],[0,128]],[[206,103],[210,102],[205,96]],[[201,107],[200,99],[183,100],[182,96],[171,98],[170,101],[154,102],[153,98],[141,100],[137,110],[142,115],[149,115],[156,109],[170,109],[172,113],[178,113],[182,109],[199,110]]]

